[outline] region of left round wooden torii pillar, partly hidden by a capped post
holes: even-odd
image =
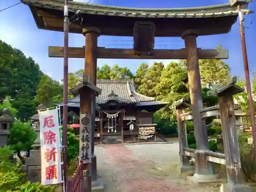
[[[85,66],[83,77],[87,78],[87,81],[94,84],[96,86],[97,81],[97,44],[98,37],[100,35],[100,31],[98,28],[83,28],[83,35],[86,37],[86,49],[85,49]],[[95,132],[95,113],[96,113],[96,102],[95,95],[88,95],[87,93],[83,94],[84,97],[80,102],[84,102],[84,100],[91,100],[90,103],[90,112],[87,111],[91,115],[91,179],[92,181],[97,180],[97,160],[94,155],[94,132]],[[89,107],[89,106],[88,106]]]

